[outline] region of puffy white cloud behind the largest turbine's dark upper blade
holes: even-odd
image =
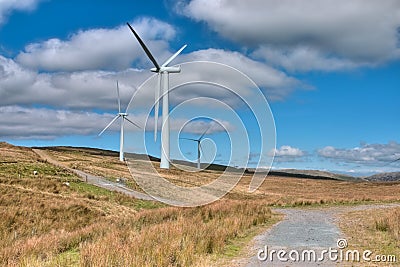
[[[175,29],[153,18],[133,22],[153,55],[168,58],[170,41]],[[25,67],[45,71],[122,70],[133,62],[151,66],[151,62],[130,32],[128,26],[113,29],[79,31],[68,40],[49,39],[25,47],[16,61]]]

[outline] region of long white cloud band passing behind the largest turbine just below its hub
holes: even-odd
[[[282,100],[302,83],[285,73],[254,61],[238,52],[208,49],[183,54],[181,61],[211,60],[235,67],[248,74],[260,86],[269,100]],[[177,61],[179,62],[179,61]],[[74,71],[39,72],[23,67],[12,59],[0,56],[0,105],[46,105],[72,109],[116,109],[116,81],[120,84],[123,108],[126,107],[136,88],[150,75],[148,70],[125,69],[121,71]],[[207,68],[173,75],[171,86],[185,77],[190,80],[207,80],[212,70]],[[239,77],[218,76],[222,84],[228,84],[239,95],[246,95],[249,88],[239,85]],[[201,89],[201,88],[200,88]],[[225,103],[233,103],[237,97],[223,90],[191,87],[182,94],[171,94],[171,103],[180,103],[197,96],[209,96]],[[154,90],[141,94],[143,103],[152,102]]]

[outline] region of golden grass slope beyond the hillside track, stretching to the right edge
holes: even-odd
[[[99,155],[95,150],[71,148],[46,150],[46,153],[70,167],[95,175],[103,175],[109,179],[124,177],[129,181],[130,187],[140,190],[126,164],[119,162],[116,155]],[[134,164],[132,174],[137,179],[152,174],[146,169],[148,165],[141,160],[135,161]],[[158,163],[153,163],[153,166],[164,178],[180,186],[203,185],[217,179],[221,174],[210,170],[188,173],[176,168],[165,171],[158,168]],[[258,199],[269,205],[279,206],[400,201],[400,182],[347,182],[268,176],[256,192],[249,193],[251,178],[249,174],[243,175],[237,186],[225,198]]]

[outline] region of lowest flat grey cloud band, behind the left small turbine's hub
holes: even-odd
[[[20,106],[0,107],[0,138],[5,139],[54,139],[68,135],[93,135],[96,136],[116,114],[95,113],[71,110],[54,110],[48,108],[26,108]],[[153,118],[146,114],[130,114],[128,118],[143,127],[146,131],[154,130]],[[148,121],[146,122],[146,120]],[[171,130],[183,133],[198,134],[209,129],[207,134],[231,130],[233,126],[228,121],[216,122],[196,121],[187,124],[184,118],[171,119]],[[184,125],[187,127],[183,127]],[[159,123],[161,126],[161,123]],[[125,124],[129,131],[141,129]],[[118,132],[119,122],[115,122],[108,131]]]

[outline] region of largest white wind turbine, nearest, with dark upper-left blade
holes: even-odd
[[[155,107],[154,107],[154,141],[157,140],[157,123],[158,123],[158,110],[159,110],[159,98],[161,94],[162,98],[162,127],[161,127],[161,163],[160,168],[169,169],[170,164],[170,153],[169,153],[169,74],[180,73],[181,67],[169,67],[168,64],[174,60],[186,45],[182,46],[175,54],[173,54],[167,61],[161,66],[157,63],[156,59],[151,54],[150,50],[146,47],[140,36],[136,33],[133,27],[127,23],[129,29],[131,29],[133,35],[135,35],[139,44],[142,46],[144,52],[149,57],[151,62],[154,64],[154,68],[150,69],[152,72],[158,74],[158,88],[155,89]]]

